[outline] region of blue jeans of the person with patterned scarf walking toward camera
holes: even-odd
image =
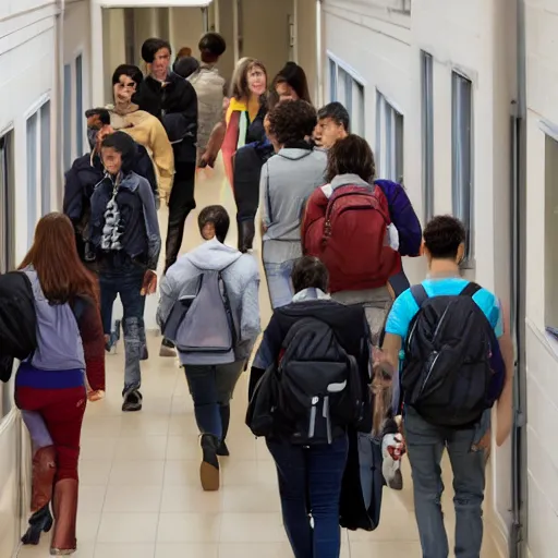
[[[124,316],[122,328],[124,330],[124,390],[122,393],[138,389],[142,384],[140,361],[145,351],[144,308],[145,296],[142,295],[142,286],[145,269],[128,263],[122,266],[107,266],[99,272],[100,284],[100,314],[105,335],[112,329],[112,306],[120,294]]]

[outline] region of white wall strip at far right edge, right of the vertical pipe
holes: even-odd
[[[533,558],[556,555],[558,541],[558,354],[545,335],[545,247],[556,239],[545,234],[545,132],[558,126],[558,1],[525,2],[527,94],[527,217],[526,230],[526,369],[527,369],[527,483],[529,547]],[[555,175],[556,183],[556,175]],[[553,244],[550,250],[556,250]]]

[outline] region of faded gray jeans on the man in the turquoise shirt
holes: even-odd
[[[441,511],[441,456],[447,448],[456,496],[456,558],[478,558],[483,543],[485,451],[473,451],[475,429],[434,426],[405,408],[404,432],[413,475],[416,523],[424,558],[447,558]]]

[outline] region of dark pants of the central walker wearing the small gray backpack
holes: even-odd
[[[244,369],[244,361],[231,364],[184,366],[190,393],[194,400],[194,414],[202,434],[222,439],[220,407],[228,407],[234,386]]]

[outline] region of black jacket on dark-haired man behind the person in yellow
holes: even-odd
[[[190,82],[170,72],[163,87],[148,75],[133,101],[162,122],[174,149],[174,162],[196,160],[197,95]]]

